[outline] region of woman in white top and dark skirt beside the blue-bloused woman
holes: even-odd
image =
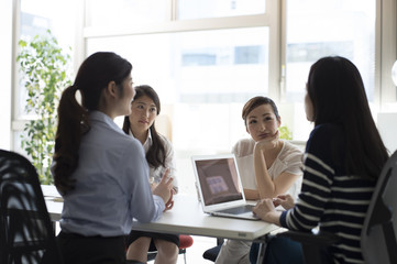
[[[150,167],[150,183],[156,186],[166,169],[175,175],[174,150],[170,142],[156,131],[155,119],[161,111],[157,92],[150,86],[136,86],[130,116],[124,117],[123,131],[139,140]],[[174,177],[174,190],[178,190]],[[157,251],[156,263],[176,263],[179,252],[179,237],[175,234],[131,231],[128,241],[126,260],[147,262],[147,251]]]

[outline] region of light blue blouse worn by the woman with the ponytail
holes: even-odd
[[[60,228],[82,235],[128,234],[133,218],[154,221],[165,205],[152,195],[142,144],[102,112],[92,111],[90,121],[71,175],[76,187],[64,196]]]

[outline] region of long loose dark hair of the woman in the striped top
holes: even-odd
[[[359,69],[344,57],[315,63],[307,82],[315,125],[338,123],[345,134],[346,173],[377,178],[388,158]]]

